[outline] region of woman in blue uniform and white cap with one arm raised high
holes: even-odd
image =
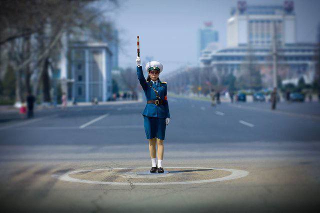
[[[145,65],[148,77],[145,80],[140,66],[140,57],[136,57],[136,72],[138,80],[146,97],[146,105],[143,110],[144,130],[149,141],[149,152],[152,167],[150,172],[163,173],[163,141],[165,127],[170,121],[169,106],[166,98],[166,82],[161,82],[159,74],[163,66],[160,62],[150,61]],[[157,165],[155,160],[155,144],[157,145]]]

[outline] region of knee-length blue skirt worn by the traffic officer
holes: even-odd
[[[143,115],[146,139],[158,138],[164,140],[165,118],[154,118]]]

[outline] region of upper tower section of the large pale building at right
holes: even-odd
[[[246,5],[238,1],[227,20],[227,46],[270,45],[273,31],[279,44],[296,42],[293,2],[283,5]]]

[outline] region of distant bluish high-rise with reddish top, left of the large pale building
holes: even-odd
[[[204,27],[198,30],[198,52],[197,56],[201,56],[204,50],[210,43],[217,43],[219,35],[212,27],[212,22],[205,22]]]

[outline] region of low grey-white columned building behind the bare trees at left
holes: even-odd
[[[68,97],[76,102],[107,101],[112,93],[111,51],[107,43],[69,44]]]

